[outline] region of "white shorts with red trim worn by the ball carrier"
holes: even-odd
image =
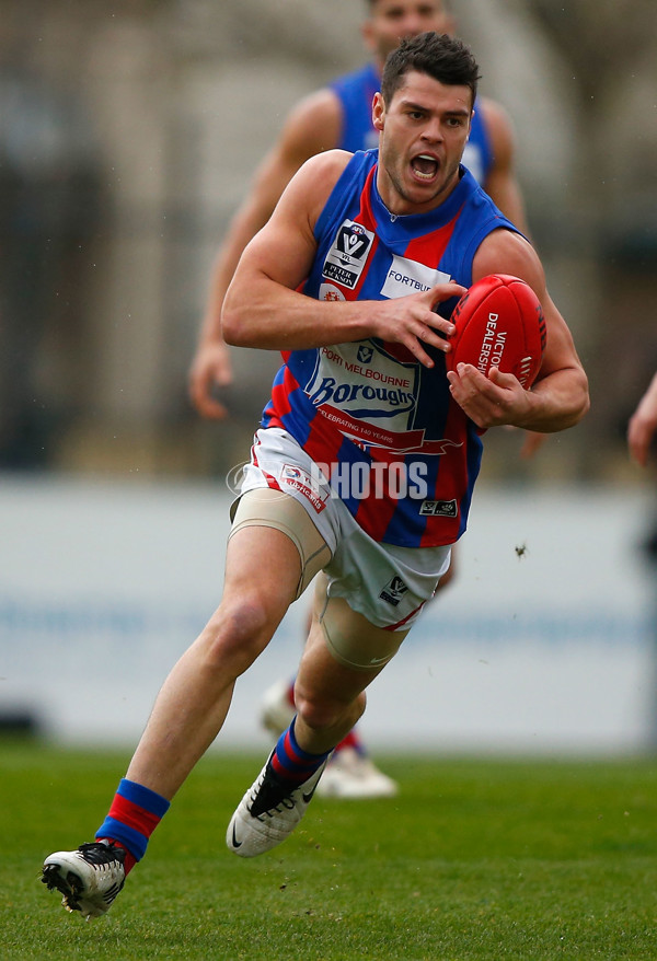
[[[356,523],[306,451],[277,427],[256,432],[241,494],[276,487],[303,506],[331,551],[328,597],[344,598],[377,627],[408,630],[449,567],[449,546],[397,547],[373,541]]]

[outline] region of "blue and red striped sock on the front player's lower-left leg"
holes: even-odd
[[[126,849],[126,875],[146,854],[148,840],[169,810],[171,801],[122,778],[107,817],[96,831],[96,841],[115,841]]]

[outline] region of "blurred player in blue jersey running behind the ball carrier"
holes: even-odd
[[[229,348],[221,336],[221,308],[228,286],[249,241],[265,225],[280,195],[299,167],[324,150],[355,152],[378,146],[372,126],[372,100],[381,70],[402,37],[425,31],[453,33],[454,19],[443,0],[366,0],[362,37],[371,59],[360,69],[338,77],[326,88],[304,97],[287,117],[281,134],[255,174],[247,197],[234,215],[212,271],[198,348],[189,372],[192,402],[203,417],[222,419],[226,406],[214,396],[217,386],[232,381]],[[521,194],[514,173],[514,136],[499,104],[477,96],[472,130],[463,154],[469,167],[495,204],[527,233]],[[540,435],[528,435],[525,452],[531,453]],[[452,564],[440,581],[452,580]],[[295,714],[293,679],[279,681],[264,695],[262,722],[278,737]],[[391,797],[397,787],[368,757],[353,730],[342,741],[327,766],[318,792],[342,798]]]

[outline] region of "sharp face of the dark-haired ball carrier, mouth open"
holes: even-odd
[[[405,74],[388,108],[377,94],[377,185],[391,213],[422,213],[449,196],[459,182],[471,116],[469,86],[448,86],[415,70]]]

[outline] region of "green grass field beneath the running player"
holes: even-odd
[[[223,835],[262,757],[210,754],[85,924],[38,869],[92,840],[127,756],[0,742],[0,957],[657,958],[657,761],[378,760],[399,798],[315,798],[242,860]]]

